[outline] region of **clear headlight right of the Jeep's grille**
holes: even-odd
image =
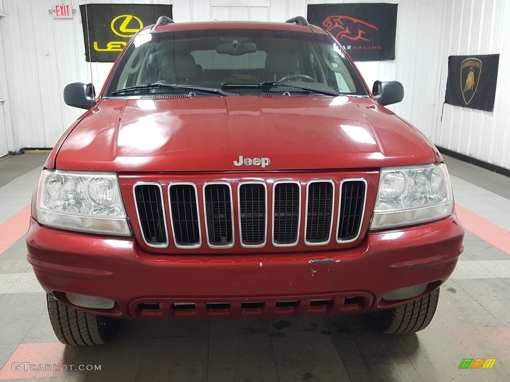
[[[453,194],[444,164],[381,169],[370,229],[429,222],[452,210]]]

